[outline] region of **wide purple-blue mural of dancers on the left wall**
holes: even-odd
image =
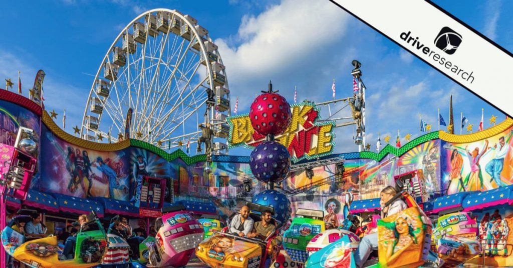
[[[40,190],[76,197],[129,200],[127,150],[100,152],[68,143],[43,128]]]

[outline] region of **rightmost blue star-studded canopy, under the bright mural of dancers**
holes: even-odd
[[[475,192],[463,199],[463,211],[483,210],[497,205],[513,203],[513,185],[486,192]]]

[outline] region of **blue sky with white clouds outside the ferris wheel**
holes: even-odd
[[[513,2],[435,3],[513,51],[509,15]],[[403,144],[406,134],[417,137],[419,114],[437,130],[439,108],[448,121],[451,94],[456,124],[463,112],[476,130],[482,108],[485,128],[491,115],[498,122],[505,118],[329,1],[9,1],[3,7],[3,20],[8,23],[0,43],[0,77],[14,81],[21,71],[27,95],[35,73],[43,69],[46,109],[60,114],[59,125],[66,109],[68,132],[82,121],[94,78],[90,74],[96,73],[115,37],[137,15],[154,8],[190,14],[209,30],[226,66],[232,106],[239,96],[239,113],[249,110],[254,93],[266,89],[269,80],[289,102],[293,102],[294,86],[298,100],[331,99],[333,78],[337,97],[348,97],[352,94],[350,63],[358,59],[367,86],[367,142],[373,151],[378,132],[382,140],[390,135],[392,144],[398,130]],[[327,109],[322,115],[327,117]],[[337,129],[336,152],[358,151],[353,133],[353,127]],[[249,151],[231,154],[248,155]]]

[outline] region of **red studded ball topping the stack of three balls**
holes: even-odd
[[[256,97],[249,110],[251,126],[262,135],[280,135],[290,125],[292,114],[287,100],[275,91],[269,82],[269,90]]]

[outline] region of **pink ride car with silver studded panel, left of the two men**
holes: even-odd
[[[203,240],[205,231],[181,204],[162,208],[162,214],[155,223],[155,229],[159,231],[149,251],[150,264],[157,267],[184,266]]]

